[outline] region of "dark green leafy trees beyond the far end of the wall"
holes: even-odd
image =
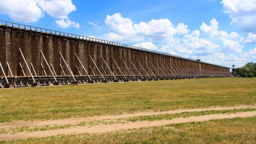
[[[248,62],[245,66],[235,69],[236,76],[254,77],[256,76],[256,63]]]

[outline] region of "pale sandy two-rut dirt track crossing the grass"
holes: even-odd
[[[1,123],[0,129],[8,127],[20,127],[20,126],[44,126],[44,125],[65,125],[65,124],[76,124],[79,122],[90,122],[90,121],[103,121],[104,119],[118,119],[134,116],[147,116],[147,115],[157,115],[157,114],[175,114],[182,113],[184,111],[205,111],[205,110],[227,110],[227,109],[240,109],[240,108],[256,108],[256,106],[236,106],[236,107],[214,107],[214,108],[204,108],[204,109],[180,109],[173,111],[163,111],[163,112],[147,112],[147,113],[135,113],[135,114],[123,114],[116,116],[94,116],[86,118],[69,118],[69,119],[58,119],[53,121],[17,121],[12,123]],[[67,129],[49,130],[49,131],[36,131],[36,132],[20,132],[15,134],[1,134],[0,140],[15,140],[15,139],[26,139],[26,138],[42,138],[50,137],[58,134],[79,134],[79,133],[105,133],[113,132],[118,130],[127,130],[140,127],[148,126],[161,126],[172,123],[186,123],[186,122],[200,122],[209,121],[210,119],[222,119],[222,118],[234,118],[234,117],[252,117],[256,116],[256,111],[247,111],[243,113],[236,114],[217,114],[217,115],[205,115],[197,117],[186,117],[186,118],[173,118],[171,120],[162,121],[138,121],[138,122],[128,122],[122,124],[99,124],[99,125],[85,125],[69,127]]]

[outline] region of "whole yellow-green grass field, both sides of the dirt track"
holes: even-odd
[[[256,78],[202,78],[2,89],[0,123],[255,105],[255,85]],[[151,121],[158,120],[142,117],[137,121],[150,121],[152,118]],[[253,143],[256,130],[252,127],[256,127],[255,117],[171,124],[105,134],[0,140],[0,143]]]

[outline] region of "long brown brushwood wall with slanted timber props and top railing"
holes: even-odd
[[[228,67],[0,21],[0,87],[230,76]]]

